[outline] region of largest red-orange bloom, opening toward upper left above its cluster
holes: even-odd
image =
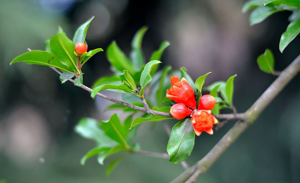
[[[167,97],[177,103],[183,103],[191,109],[196,109],[194,91],[187,80],[183,77],[179,81],[179,77],[171,76],[170,82],[172,86],[167,89]]]

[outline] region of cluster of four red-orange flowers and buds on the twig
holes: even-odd
[[[217,119],[211,115],[211,109],[216,104],[216,99],[212,95],[203,95],[199,99],[199,106],[196,109],[196,100],[192,87],[187,80],[182,77],[171,76],[171,88],[167,89],[167,97],[175,101],[170,113],[176,119],[183,119],[191,116],[191,123],[194,127],[196,135],[200,135],[202,131],[213,134],[213,125],[218,123]]]

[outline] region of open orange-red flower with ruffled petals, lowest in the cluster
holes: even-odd
[[[214,124],[217,124],[218,120],[211,115],[210,110],[199,110],[192,115],[192,125],[196,135],[200,135],[202,131],[207,132],[212,135],[212,127]]]

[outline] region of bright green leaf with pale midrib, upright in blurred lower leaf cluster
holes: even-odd
[[[108,137],[130,150],[130,146],[125,140],[126,132],[124,126],[122,126],[117,114],[112,115],[109,121],[101,121],[101,127]]]

